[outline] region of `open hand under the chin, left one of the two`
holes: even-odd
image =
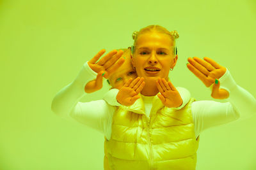
[[[131,106],[140,98],[138,95],[145,86],[144,78],[137,77],[132,81],[132,78],[126,81],[124,86],[119,90],[116,95],[116,101],[123,106]]]

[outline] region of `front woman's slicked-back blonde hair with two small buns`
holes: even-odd
[[[160,26],[160,25],[148,25],[147,27],[144,27],[142,29],[140,29],[140,31],[134,31],[132,33],[132,39],[134,39],[134,43],[132,46],[132,54],[134,53],[134,46],[136,45],[136,41],[138,39],[138,37],[141,34],[144,34],[146,32],[160,32],[163,34],[167,34],[168,36],[170,36],[170,38],[173,40],[173,47],[174,47],[174,54],[177,54],[177,47],[176,47],[176,39],[179,38],[179,33],[177,31],[168,31],[166,28]]]

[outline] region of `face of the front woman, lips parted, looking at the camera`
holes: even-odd
[[[167,34],[148,32],[141,34],[135,45],[132,64],[139,77],[145,80],[167,80],[170,68],[177,62],[173,54],[173,41]]]

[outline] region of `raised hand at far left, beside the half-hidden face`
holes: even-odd
[[[100,50],[97,55],[95,55],[90,61],[88,61],[88,65],[90,68],[95,71],[97,74],[96,80],[92,80],[88,82],[84,87],[84,92],[92,93],[102,88],[102,78],[108,78],[112,73],[118,69],[118,67],[122,66],[125,59],[120,59],[124,51],[112,50],[107,55],[102,57],[99,60],[100,56],[106,52],[106,50]],[[119,59],[119,60],[118,60]],[[97,62],[99,60],[99,62]],[[118,61],[117,61],[118,60]],[[117,62],[116,62],[117,61]]]

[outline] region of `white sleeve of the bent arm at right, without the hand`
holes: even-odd
[[[196,138],[200,132],[210,127],[255,116],[255,97],[236,84],[228,69],[221,76],[220,83],[220,89],[229,92],[226,99],[228,102],[195,101],[191,104]],[[212,86],[209,89],[211,90]]]

